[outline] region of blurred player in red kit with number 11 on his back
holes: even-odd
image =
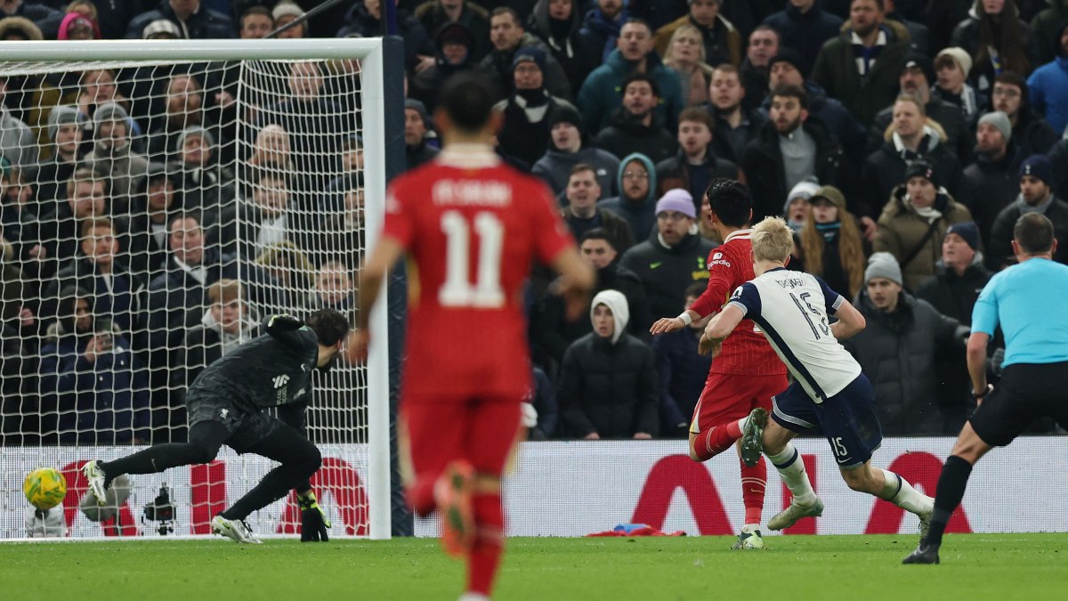
[[[467,559],[460,599],[470,600],[488,599],[504,545],[501,474],[531,387],[522,304],[531,263],[561,274],[572,319],[594,283],[549,189],[493,152],[498,99],[483,75],[445,82],[435,113],[444,148],[390,186],[381,241],[360,275],[357,349],[365,349],[388,269],[402,255],[413,264],[399,426],[407,495],[420,515],[439,511],[442,545]]]

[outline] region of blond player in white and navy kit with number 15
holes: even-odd
[[[751,234],[756,277],[735,290],[708,323],[701,351],[718,354],[720,343],[743,320],[752,320],[786,364],[794,383],[772,398],[772,419],[761,409],[741,420],[742,460],[755,463],[763,451],[779,469],[794,499],[768,522],[772,530],[823,513],[790,440],[822,431],[850,489],[870,493],[920,518],[921,536],[930,523],[934,499],[899,475],[871,466],[882,444],[871,384],[861,366],[838,343],[864,329],[864,317],[816,276],[785,264],[792,234],[781,217],[768,217]],[[837,318],[833,324],[830,315]]]

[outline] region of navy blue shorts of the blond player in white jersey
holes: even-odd
[[[821,431],[842,469],[860,467],[882,445],[871,383],[862,373],[841,392],[816,404],[797,382],[771,399],[771,418],[798,433]]]

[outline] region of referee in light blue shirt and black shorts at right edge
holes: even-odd
[[[1068,266],[1053,262],[1053,224],[1027,213],[1012,228],[1017,265],[996,274],[972,311],[968,371],[979,405],[945,460],[934,497],[930,531],[905,564],[938,564],[942,533],[960,499],[972,466],[991,448],[1012,442],[1033,421],[1052,417],[1068,426]],[[994,329],[1005,334],[1004,373],[987,384],[987,343]],[[985,402],[984,402],[985,401]]]

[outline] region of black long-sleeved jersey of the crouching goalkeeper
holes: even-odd
[[[272,407],[311,400],[318,337],[312,328],[270,327],[207,366],[189,385],[187,398],[221,396],[241,404]]]

